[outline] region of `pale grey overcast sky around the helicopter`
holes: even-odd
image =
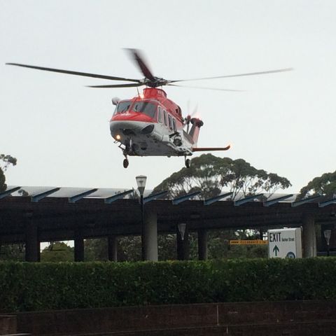
[[[129,78],[141,73],[123,48],[139,48],[155,76],[184,79],[293,67],[295,71],[191,82],[244,92],[166,87],[183,114],[198,105],[198,146],[232,149],[288,178],[297,192],[334,172],[336,1],[0,0],[0,153],[18,158],[12,186],[153,188],[183,158],[133,158],[113,144],[107,80],[5,65],[18,62]],[[198,155],[198,154],[197,154]]]

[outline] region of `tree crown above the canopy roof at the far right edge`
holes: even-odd
[[[298,199],[314,195],[336,196],[336,171],[315,177],[300,190]]]

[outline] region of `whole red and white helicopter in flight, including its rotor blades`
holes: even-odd
[[[225,147],[197,147],[200,128],[204,125],[200,118],[188,115],[182,116],[181,107],[167,98],[167,93],[162,90],[165,85],[188,87],[176,83],[188,80],[209,80],[217,78],[229,78],[240,76],[254,76],[266,73],[277,73],[290,71],[292,68],[276,69],[269,71],[258,71],[253,73],[239,73],[226,76],[215,76],[207,78],[193,78],[182,80],[167,80],[156,77],[146,63],[140,50],[127,49],[144,75],[142,79],[123,78],[117,76],[105,76],[95,73],[46,68],[19,63],[6,63],[8,65],[23,66],[30,69],[67,73],[75,76],[86,76],[107,80],[121,80],[121,83],[111,85],[89,85],[94,88],[118,88],[145,86],[142,94],[137,91],[137,96],[132,99],[113,98],[112,103],[116,106],[110,120],[110,132],[114,142],[123,151],[123,167],[129,165],[129,156],[182,156],[185,165],[190,167],[190,157],[195,152],[202,151],[228,151],[230,145]],[[193,86],[189,86],[195,88]],[[200,89],[237,91],[218,89],[213,87],[196,87]]]

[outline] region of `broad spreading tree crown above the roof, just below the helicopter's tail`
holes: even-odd
[[[273,194],[279,188],[290,187],[290,181],[263,169],[256,169],[243,159],[218,158],[203,154],[191,160],[190,168],[182,168],[155,187],[153,193],[168,190],[167,197],[178,197],[202,191],[205,198],[219,195],[223,189],[237,195]]]

